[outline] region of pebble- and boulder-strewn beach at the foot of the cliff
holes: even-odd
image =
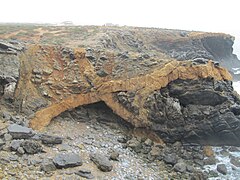
[[[3,117],[1,179],[208,179],[229,177],[240,167],[240,158],[231,154],[237,147],[215,152],[210,146],[156,143],[129,133],[131,127],[113,116],[99,122],[65,114],[41,134],[23,126],[25,118]],[[219,154],[231,159],[232,171]]]

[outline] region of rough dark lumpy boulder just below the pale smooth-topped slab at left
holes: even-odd
[[[27,154],[36,154],[42,152],[42,146],[35,141],[26,140],[21,143],[21,147]]]

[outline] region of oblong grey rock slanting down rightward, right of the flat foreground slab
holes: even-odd
[[[99,153],[90,154],[90,159],[97,165],[98,169],[103,172],[109,172],[113,169],[111,162],[108,158]]]

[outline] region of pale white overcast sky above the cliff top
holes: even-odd
[[[239,12],[239,0],[2,0],[0,22],[113,23],[240,37]]]

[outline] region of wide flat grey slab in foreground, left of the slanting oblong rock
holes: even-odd
[[[68,154],[57,154],[53,163],[57,168],[69,168],[82,165],[82,159],[78,154],[68,153]]]

